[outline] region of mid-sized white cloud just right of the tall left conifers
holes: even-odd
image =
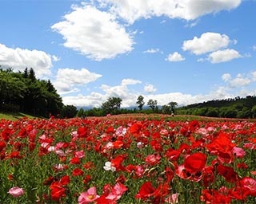
[[[102,75],[98,73],[90,73],[90,71],[85,68],[81,70],[69,68],[58,69],[57,77],[53,84],[59,94],[66,94],[70,92],[78,92],[79,89],[75,86],[88,84],[98,80],[100,77],[102,77]]]

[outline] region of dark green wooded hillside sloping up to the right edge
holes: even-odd
[[[256,96],[209,100],[177,108],[180,115],[195,115],[226,118],[256,118]]]

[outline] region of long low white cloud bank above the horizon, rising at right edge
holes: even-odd
[[[214,88],[214,91],[209,92],[206,95],[191,95],[182,92],[153,94],[152,91],[156,91],[156,89],[151,84],[145,86],[145,91],[151,90],[151,92],[142,94],[141,92],[133,92],[130,90],[130,88],[127,87],[127,84],[135,84],[135,81],[137,80],[134,80],[134,83],[132,83],[132,79],[124,79],[122,80],[122,83],[117,86],[111,87],[109,85],[103,84],[101,88],[104,93],[91,92],[90,95],[87,96],[78,94],[78,96],[64,96],[62,99],[64,104],[101,107],[102,103],[105,102],[110,96],[116,96],[122,98],[122,108],[127,108],[136,106],[136,99],[138,96],[142,95],[146,103],[148,100],[153,99],[157,100],[158,105],[164,105],[168,104],[170,101],[176,101],[179,106],[182,106],[187,104],[201,103],[207,100],[234,98],[235,96],[253,96],[256,94],[254,88],[252,90],[245,90],[243,87],[253,82],[253,80],[256,81],[256,71],[248,73],[246,76],[247,77],[245,77],[245,74],[238,73],[237,76],[232,79],[230,73],[225,73],[222,75],[222,80],[224,80],[227,85],[217,86]],[[130,82],[126,83],[124,81]]]

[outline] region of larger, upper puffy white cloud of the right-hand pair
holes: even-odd
[[[193,40],[184,41],[182,49],[200,55],[226,48],[229,43],[230,38],[225,34],[202,33],[199,38],[195,36]]]

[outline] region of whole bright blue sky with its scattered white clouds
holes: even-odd
[[[254,0],[0,0],[0,65],[32,67],[64,104],[256,95]]]

